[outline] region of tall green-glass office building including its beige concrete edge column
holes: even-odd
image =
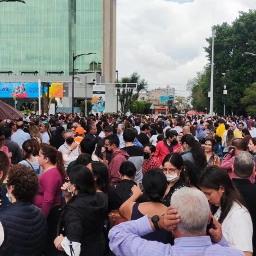
[[[0,3],[0,83],[65,81],[63,106],[72,106],[72,55],[76,59],[75,105],[92,98],[97,83],[115,81],[116,0],[33,0]],[[105,111],[115,111],[114,89],[106,85]],[[3,88],[2,88],[3,89]],[[0,99],[14,105],[0,86]],[[16,98],[17,105],[35,98]]]

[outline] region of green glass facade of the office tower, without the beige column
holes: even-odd
[[[0,75],[101,72],[104,0],[0,2]]]

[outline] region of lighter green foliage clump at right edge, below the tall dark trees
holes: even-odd
[[[241,102],[245,105],[246,112],[250,115],[256,115],[256,82],[246,88],[244,94]]]

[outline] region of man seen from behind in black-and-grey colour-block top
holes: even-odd
[[[123,140],[125,141],[125,147],[122,150],[125,150],[127,154],[130,156],[128,160],[134,163],[136,167],[136,174],[135,174],[135,182],[142,183],[142,164],[143,164],[143,148],[137,147],[134,145],[135,133],[133,129],[127,128],[123,132]]]

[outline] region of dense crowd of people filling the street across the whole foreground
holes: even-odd
[[[0,255],[255,255],[255,163],[252,117],[0,120]]]

